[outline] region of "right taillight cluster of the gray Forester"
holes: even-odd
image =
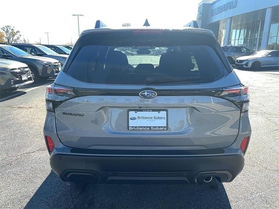
[[[223,88],[219,97],[225,98],[233,102],[237,107],[241,109],[241,113],[249,110],[249,93],[247,86],[232,86]]]

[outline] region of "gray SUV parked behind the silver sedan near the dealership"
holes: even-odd
[[[232,45],[225,45],[222,46],[222,49],[228,58],[228,61],[230,64],[234,64],[236,58],[242,57],[242,56],[247,56],[247,55],[252,55],[253,52],[243,46],[232,46]]]

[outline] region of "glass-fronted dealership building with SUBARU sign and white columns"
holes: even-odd
[[[279,50],[279,0],[202,1],[195,23],[212,30],[221,45]]]

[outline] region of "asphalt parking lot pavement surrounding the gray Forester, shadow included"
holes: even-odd
[[[236,70],[250,88],[252,136],[231,183],[83,185],[51,172],[44,80],[0,95],[0,208],[279,208],[279,74]]]

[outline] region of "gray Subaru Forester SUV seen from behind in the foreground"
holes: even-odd
[[[210,30],[86,30],[47,87],[50,165],[70,182],[231,182],[248,108]]]

